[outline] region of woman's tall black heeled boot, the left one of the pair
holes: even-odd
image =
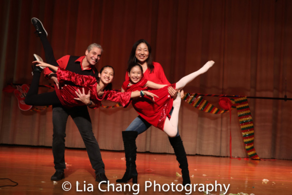
[[[123,178],[117,179],[116,182],[127,183],[130,179],[132,179],[132,183],[137,183],[138,173],[136,170],[136,154],[137,154],[136,138],[138,136],[138,132],[123,131],[122,136],[124,141],[127,168]]]

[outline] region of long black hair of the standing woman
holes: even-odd
[[[134,43],[134,45],[132,47],[132,50],[131,50],[131,53],[130,53],[130,56],[129,56],[129,59],[128,59],[128,68],[129,68],[129,65],[130,64],[135,63],[136,49],[137,49],[137,46],[140,43],[145,43],[147,45],[147,47],[148,47],[149,55],[148,55],[148,58],[146,59],[146,63],[147,63],[147,68],[149,68],[150,69],[150,73],[152,73],[153,72],[153,69],[154,69],[154,66],[153,66],[153,59],[152,59],[152,55],[151,55],[151,46],[150,46],[150,44],[145,39],[140,39],[140,40],[138,40],[138,41],[136,41]]]

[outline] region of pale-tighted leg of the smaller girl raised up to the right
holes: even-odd
[[[211,68],[213,66],[215,62],[214,61],[208,61],[203,67],[201,67],[201,69],[199,69],[198,71],[196,72],[193,72],[183,78],[181,78],[181,80],[179,80],[177,83],[176,83],[176,88],[178,90],[181,90],[183,89],[183,87],[191,82],[192,80],[194,80],[196,77],[198,77],[199,75],[207,72],[209,70],[209,68]]]

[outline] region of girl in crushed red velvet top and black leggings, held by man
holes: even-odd
[[[141,92],[123,94],[111,90],[111,82],[114,76],[114,70],[111,66],[103,67],[98,74],[98,78],[95,78],[92,76],[78,75],[71,71],[47,64],[43,61],[36,60],[33,63],[38,64],[34,67],[33,81],[25,98],[25,103],[28,105],[44,106],[61,103],[65,107],[81,106],[84,104],[78,100],[79,94],[77,93],[77,91],[80,92],[81,88],[83,92],[90,95],[90,100],[87,105],[90,106],[93,101],[95,108],[99,107],[100,101],[103,99],[117,101],[124,107],[127,107],[130,103],[130,98],[140,97]],[[37,94],[40,73],[42,71],[40,66],[49,67],[51,70],[55,71],[59,82],[70,81],[72,84],[65,85],[63,89],[54,92]],[[146,92],[146,96],[154,100],[155,95]]]

